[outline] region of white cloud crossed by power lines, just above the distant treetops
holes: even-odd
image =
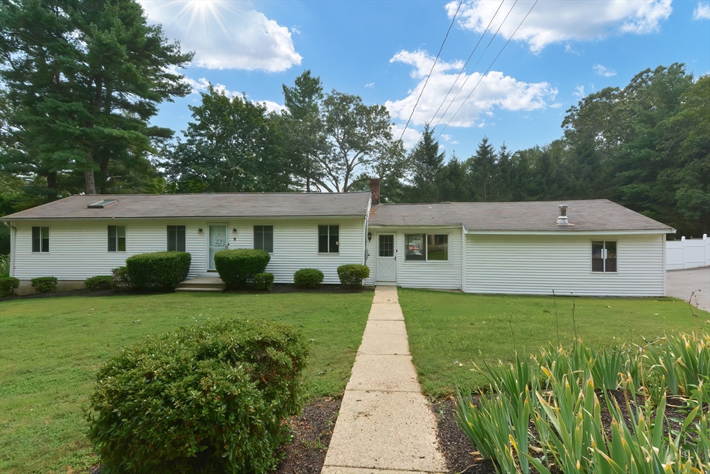
[[[385,102],[385,106],[389,110],[392,117],[402,120],[407,120],[412,113],[417,97],[424,85],[425,77],[429,74],[432,68],[434,58],[428,55],[425,51],[400,51],[395,54],[390,60],[391,63],[405,63],[412,65],[414,68],[411,76],[420,80],[413,90],[410,90],[408,96],[404,99]],[[412,117],[412,123],[415,125],[423,125],[432,120],[434,113],[439,108],[449,89],[454,84],[458,72],[461,69],[461,61],[446,63],[444,61],[437,62],[434,72],[432,72],[424,94],[417,104],[417,109]],[[479,122],[479,117],[482,114],[488,114],[493,107],[499,107],[506,110],[535,110],[547,107],[547,99],[554,99],[557,94],[557,89],[551,87],[547,82],[522,82],[515,78],[503,75],[503,72],[491,71],[485,76],[481,76],[479,72],[472,72],[470,75],[461,75],[459,81],[454,86],[452,94],[447,98],[447,102],[437,114],[437,119],[432,123],[435,124],[439,117],[442,116],[444,110],[448,107],[449,102],[454,98],[454,94],[464,84],[464,89],[454,100],[454,103],[449,107],[449,110],[444,114],[442,123],[449,122],[454,116],[454,113],[461,107],[461,110],[451,122],[452,126],[476,126]],[[476,84],[478,87],[476,87]],[[474,90],[474,87],[475,90]],[[471,94],[471,97],[464,102],[466,97]],[[463,104],[463,106],[461,106]]]

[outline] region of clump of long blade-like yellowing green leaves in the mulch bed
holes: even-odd
[[[488,392],[459,392],[457,422],[499,473],[704,473],[709,340],[669,335],[633,350],[577,342],[486,365]]]

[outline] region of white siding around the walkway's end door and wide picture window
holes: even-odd
[[[367,265],[370,267],[370,278],[366,284],[376,283],[377,242],[376,235],[393,233],[395,235],[395,256],[397,257],[397,285],[405,288],[430,288],[430,289],[461,289],[461,227],[427,227],[397,228],[376,227],[370,228],[372,242],[368,243],[369,257]],[[448,235],[448,260],[406,260],[405,235],[430,234]]]

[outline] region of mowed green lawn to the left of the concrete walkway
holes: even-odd
[[[264,318],[312,340],[308,398],[341,394],[372,291],[39,298],[0,302],[0,473],[86,470],[97,463],[82,406],[99,365],[149,334],[215,318]]]

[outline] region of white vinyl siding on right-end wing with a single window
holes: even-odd
[[[663,236],[468,235],[466,292],[662,296]],[[614,273],[593,272],[591,242],[617,242]]]

